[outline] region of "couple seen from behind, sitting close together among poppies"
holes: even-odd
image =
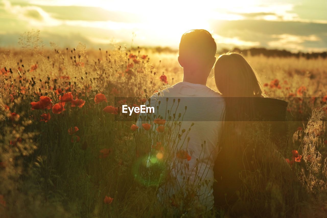
[[[188,130],[193,125],[183,145],[192,151],[192,158],[187,169],[174,176],[179,184],[185,180],[203,181],[196,197],[207,210],[214,205],[226,207],[237,201],[243,184],[241,172],[253,170],[256,162],[252,159],[254,148],[249,148],[248,152],[244,147],[244,135],[254,120],[273,121],[270,122],[271,141],[283,139],[286,132],[285,125],[276,128],[274,123],[285,120],[287,102],[264,95],[257,76],[242,55],[228,53],[217,60],[215,55],[216,43],[208,31],[186,32],[181,37],[178,57],[183,68],[183,82],[151,97],[161,102],[166,98],[181,99],[178,103],[182,110],[174,112],[176,116],[185,112],[180,129]],[[213,67],[220,93],[206,86]],[[184,106],[187,106],[186,111]],[[157,108],[156,113],[163,116],[166,108]],[[258,159],[264,155],[260,149],[256,154]],[[170,194],[179,189],[181,185]]]

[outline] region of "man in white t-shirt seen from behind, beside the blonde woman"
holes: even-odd
[[[184,188],[187,189],[185,182],[189,178],[187,183],[200,184],[195,198],[207,210],[212,209],[214,204],[213,164],[218,153],[217,143],[224,110],[224,100],[221,95],[206,86],[208,76],[215,64],[215,54],[216,43],[207,30],[194,29],[184,33],[181,37],[178,57],[183,68],[183,82],[164,89],[159,96],[155,93],[150,101],[151,106],[155,103],[158,105],[161,101],[159,109],[155,107],[154,114],[157,118],[162,117],[168,120],[168,110],[170,110],[170,116],[173,117],[175,114],[175,120],[181,113],[180,131],[182,129],[188,131],[191,127],[187,136],[185,133],[181,136],[182,141],[185,139],[181,149],[187,151],[189,155],[189,161],[185,160],[188,167],[184,166],[185,169],[175,173],[174,169],[172,170],[178,184],[169,191],[168,195],[174,195]],[[185,106],[187,106],[186,111]],[[144,117],[142,119],[140,118],[139,122],[147,122]],[[194,123],[193,126],[192,123]],[[152,127],[155,128],[155,125],[152,124]],[[176,168],[179,167],[176,166]],[[167,198],[167,195],[161,194],[160,199],[165,200],[163,198]]]

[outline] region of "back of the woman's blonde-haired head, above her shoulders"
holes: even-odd
[[[219,56],[215,64],[215,82],[225,97],[259,97],[262,94],[252,67],[237,53]]]

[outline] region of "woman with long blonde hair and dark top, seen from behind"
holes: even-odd
[[[213,188],[215,205],[226,209],[240,199],[240,191],[249,172],[255,172],[256,166],[262,166],[267,149],[260,145],[268,143],[264,140],[269,138],[278,145],[286,141],[287,102],[267,98],[253,69],[237,53],[227,53],[218,58],[215,82],[226,105],[220,152],[214,168],[217,182]],[[267,131],[260,135],[258,129]],[[251,134],[265,139],[253,142],[256,136]],[[276,151],[271,148],[268,156],[277,156]]]

